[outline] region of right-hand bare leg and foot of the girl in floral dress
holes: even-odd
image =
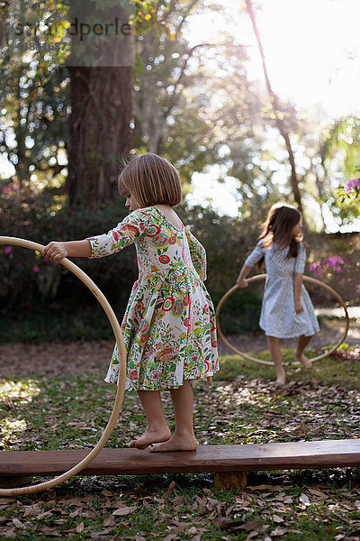
[[[170,390],[175,411],[175,432],[164,444],[155,445],[152,453],[166,451],[194,451],[197,447],[193,434],[193,389],[189,381]]]

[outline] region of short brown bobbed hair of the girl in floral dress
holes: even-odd
[[[118,179],[121,196],[132,195],[140,207],[175,206],[181,202],[180,177],[165,158],[157,154],[142,154],[131,160]]]

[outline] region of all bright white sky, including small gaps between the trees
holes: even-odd
[[[222,0],[234,11],[234,0]],[[306,107],[320,104],[331,118],[360,115],[360,0],[263,0],[257,26],[266,53],[266,67],[272,86],[280,98],[290,98]],[[247,44],[251,57],[249,76],[264,83],[260,55],[249,17],[236,18],[233,29],[225,27]],[[216,39],[224,28],[219,14],[194,20],[189,36],[193,43]],[[265,83],[264,83],[265,84]],[[325,120],[325,119],[324,119]],[[229,215],[238,214],[234,180],[220,187],[211,177],[207,197],[213,206]],[[203,201],[203,176],[193,176],[194,202]],[[216,202],[220,203],[216,203]],[[316,208],[314,208],[316,212]],[[329,230],[336,231],[330,223]],[[356,229],[360,230],[360,222]]]

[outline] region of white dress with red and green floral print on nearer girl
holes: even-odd
[[[88,238],[91,258],[135,243],[139,280],[121,324],[127,351],[128,390],[174,389],[185,380],[211,380],[219,370],[215,313],[206,279],[206,254],[182,225],[156,207],[139,208],[108,234]],[[105,381],[117,383],[119,353]]]

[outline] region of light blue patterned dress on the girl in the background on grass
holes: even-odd
[[[252,267],[265,256],[266,284],[259,326],[266,336],[275,338],[312,336],[319,333],[320,327],[309,293],[302,285],[301,314],[296,314],[293,298],[294,274],[302,274],[305,269],[305,247],[303,243],[300,244],[296,258],[287,259],[288,251],[289,248],[279,248],[276,244],[266,249],[259,241],[245,261],[247,266]]]

